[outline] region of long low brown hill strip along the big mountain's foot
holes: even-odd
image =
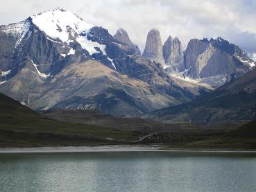
[[[133,132],[144,132],[151,134],[153,132],[186,132],[203,130],[219,130],[220,128],[200,125],[192,125],[189,123],[160,123],[151,121],[150,119],[141,118],[119,118],[104,114],[97,110],[47,110],[41,111],[40,114],[49,119],[58,121],[66,121],[69,123],[81,123],[87,125],[95,125],[105,128],[112,128],[114,130],[129,130]],[[232,127],[234,124],[232,124]],[[227,126],[225,126],[226,128]]]

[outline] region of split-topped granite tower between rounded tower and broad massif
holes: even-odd
[[[174,40],[171,36],[168,37],[166,42],[164,42],[163,54],[165,64],[169,67],[169,71],[176,73],[184,71],[183,49],[178,37],[175,37]]]

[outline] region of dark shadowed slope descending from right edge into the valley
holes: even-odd
[[[247,122],[256,115],[256,69],[187,104],[151,112],[146,117],[166,122],[218,124]]]

